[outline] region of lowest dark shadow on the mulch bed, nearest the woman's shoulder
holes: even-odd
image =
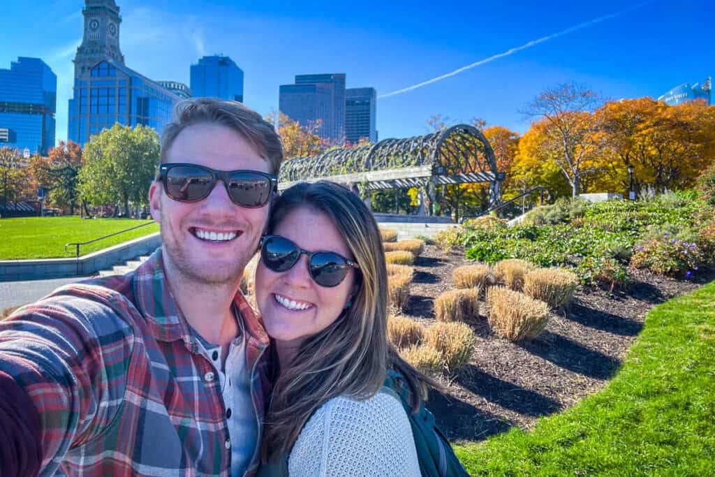
[[[435,415],[437,426],[450,441],[480,441],[506,432],[513,426],[504,419],[437,390],[430,391],[427,408]]]

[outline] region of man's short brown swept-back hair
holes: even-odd
[[[174,109],[172,122],[164,127],[161,139],[161,162],[167,161],[169,147],[180,132],[192,124],[208,122],[233,129],[256,148],[270,164],[270,172],[278,175],[283,161],[280,137],[270,122],[237,101],[216,98],[185,99]]]

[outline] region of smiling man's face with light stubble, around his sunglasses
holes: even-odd
[[[240,134],[211,123],[194,124],[180,132],[167,151],[167,162],[189,162],[226,171],[270,172],[270,164]],[[152,184],[149,203],[152,217],[161,225],[164,260],[169,270],[175,269],[194,282],[237,285],[257,250],[269,206],[248,209],[236,205],[222,181],[199,202],[172,200],[162,189],[159,182]],[[199,238],[211,232],[235,237]]]

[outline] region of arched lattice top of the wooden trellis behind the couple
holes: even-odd
[[[501,202],[503,178],[480,130],[457,124],[424,136],[290,159],[282,166],[279,187],[321,179],[360,184],[364,190],[489,182],[490,205],[495,205]]]

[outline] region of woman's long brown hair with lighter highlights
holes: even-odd
[[[277,368],[261,444],[264,462],[290,452],[312,413],[337,396],[365,400],[378,393],[388,368],[410,386],[413,409],[433,381],[400,358],[388,342],[388,273],[380,230],[362,200],[332,182],[301,183],[272,205],[267,232],[299,207],[330,217],[360,265],[358,290],[348,308],[325,330],[305,340],[297,355]],[[274,360],[277,366],[277,360]]]

